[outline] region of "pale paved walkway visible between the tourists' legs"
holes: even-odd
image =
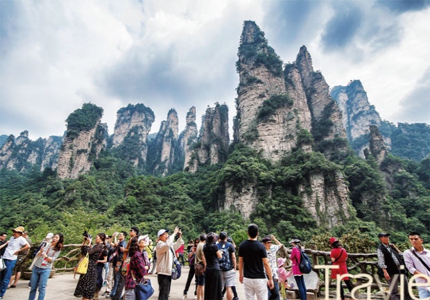
[[[182,292],[184,291],[185,283],[187,282],[189,268],[182,268],[182,276],[176,280],[172,281],[171,292],[169,300],[180,300],[182,299]],[[238,273],[239,274],[239,273]],[[76,276],[78,278],[78,276]],[[157,299],[158,297],[158,285],[157,285],[157,275],[149,275],[150,281],[155,290],[154,294],[150,299]],[[74,297],[74,290],[76,288],[76,284],[78,281],[74,279],[74,274],[66,273],[66,274],[55,274],[53,278],[50,278],[48,281],[48,286],[46,287],[46,296],[45,300],[71,300],[78,299]],[[28,280],[20,280],[18,282],[17,288],[10,288],[6,291],[4,295],[4,300],[26,300],[28,299],[28,292],[30,289],[27,288]],[[239,295],[239,299],[245,299],[245,294],[243,292],[243,285],[239,283],[239,276],[236,277],[236,287],[237,293]],[[196,285],[191,283],[191,286],[188,291],[188,299],[193,299],[194,290]],[[102,292],[100,293],[99,299],[105,299],[101,294],[105,291],[105,288],[102,288]],[[37,299],[37,298],[36,298]]]

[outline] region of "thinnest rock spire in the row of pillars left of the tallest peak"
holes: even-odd
[[[197,124],[196,124],[196,108],[193,106],[189,109],[185,119],[186,125],[184,131],[180,134],[179,147],[184,155],[184,167],[187,169],[191,162],[193,154],[193,146],[197,142]]]

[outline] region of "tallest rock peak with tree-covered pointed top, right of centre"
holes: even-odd
[[[278,160],[295,147],[298,115],[287,96],[282,60],[255,22],[243,26],[236,68],[240,83],[234,142],[244,142]]]

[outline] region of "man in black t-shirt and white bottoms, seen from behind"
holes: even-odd
[[[257,240],[257,225],[248,226],[248,236],[239,246],[239,281],[245,288],[246,299],[256,295],[257,300],[267,300],[267,287],[273,289],[273,277],[266,248]]]

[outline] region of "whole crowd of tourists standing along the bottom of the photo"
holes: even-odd
[[[28,251],[31,243],[24,238],[24,227],[12,229],[12,238],[6,240],[7,234],[0,233],[0,254],[5,268],[1,270],[0,300],[6,290],[10,288],[12,270],[17,264],[19,253]],[[23,236],[24,235],[24,236]],[[126,237],[129,236],[128,242]],[[297,285],[300,300],[307,299],[307,288],[304,274],[300,271],[302,260],[301,240],[293,237],[290,244],[290,260],[278,257],[278,251],[283,246],[274,235],[267,235],[258,240],[258,226],[248,226],[248,240],[239,245],[239,263],[236,265],[236,245],[233,240],[222,231],[219,233],[201,234],[191,240],[188,247],[189,274],[184,287],[182,299],[187,299],[191,281],[195,276],[196,300],[220,300],[224,295],[227,300],[239,300],[236,292],[236,270],[239,269],[239,282],[243,284],[246,299],[279,300],[285,297],[285,289],[292,288],[293,283],[288,282],[293,276]],[[423,239],[419,233],[411,232],[408,240],[411,248],[402,253],[395,244],[390,243],[389,233],[379,233],[380,244],[377,247],[378,267],[389,285],[390,299],[412,299],[408,293],[406,269],[413,275],[418,286],[420,299],[430,297],[430,251],[423,247]],[[169,300],[171,290],[173,262],[178,257],[178,249],[184,247],[182,231],[175,227],[169,235],[169,229],[163,228],[157,232],[156,245],[150,240],[148,234],[139,235],[139,228],[132,226],[126,233],[121,231],[111,237],[105,233],[98,233],[94,237],[84,233],[80,253],[88,256],[89,263],[86,274],[81,274],[74,292],[75,297],[83,300],[98,299],[102,288],[105,298],[109,299],[137,299],[135,287],[137,283],[146,280],[145,276],[155,272],[159,287],[158,299]],[[46,292],[46,283],[51,273],[54,261],[63,248],[64,236],[49,233],[35,251],[35,258],[31,265],[32,276],[28,299],[33,300],[39,292],[39,300],[43,300]],[[330,252],[331,264],[337,266],[332,269],[331,278],[342,281],[351,292],[354,285],[347,274],[347,251],[339,240],[330,238],[332,246]],[[286,266],[286,262],[289,262]],[[151,269],[152,263],[152,269]],[[406,266],[406,269],[404,269]],[[289,272],[286,272],[285,267]],[[402,274],[404,276],[402,276]],[[402,282],[401,282],[402,281]],[[426,285],[427,283],[427,285]],[[401,285],[402,294],[398,286]],[[343,287],[339,290],[341,299],[345,299]]]

